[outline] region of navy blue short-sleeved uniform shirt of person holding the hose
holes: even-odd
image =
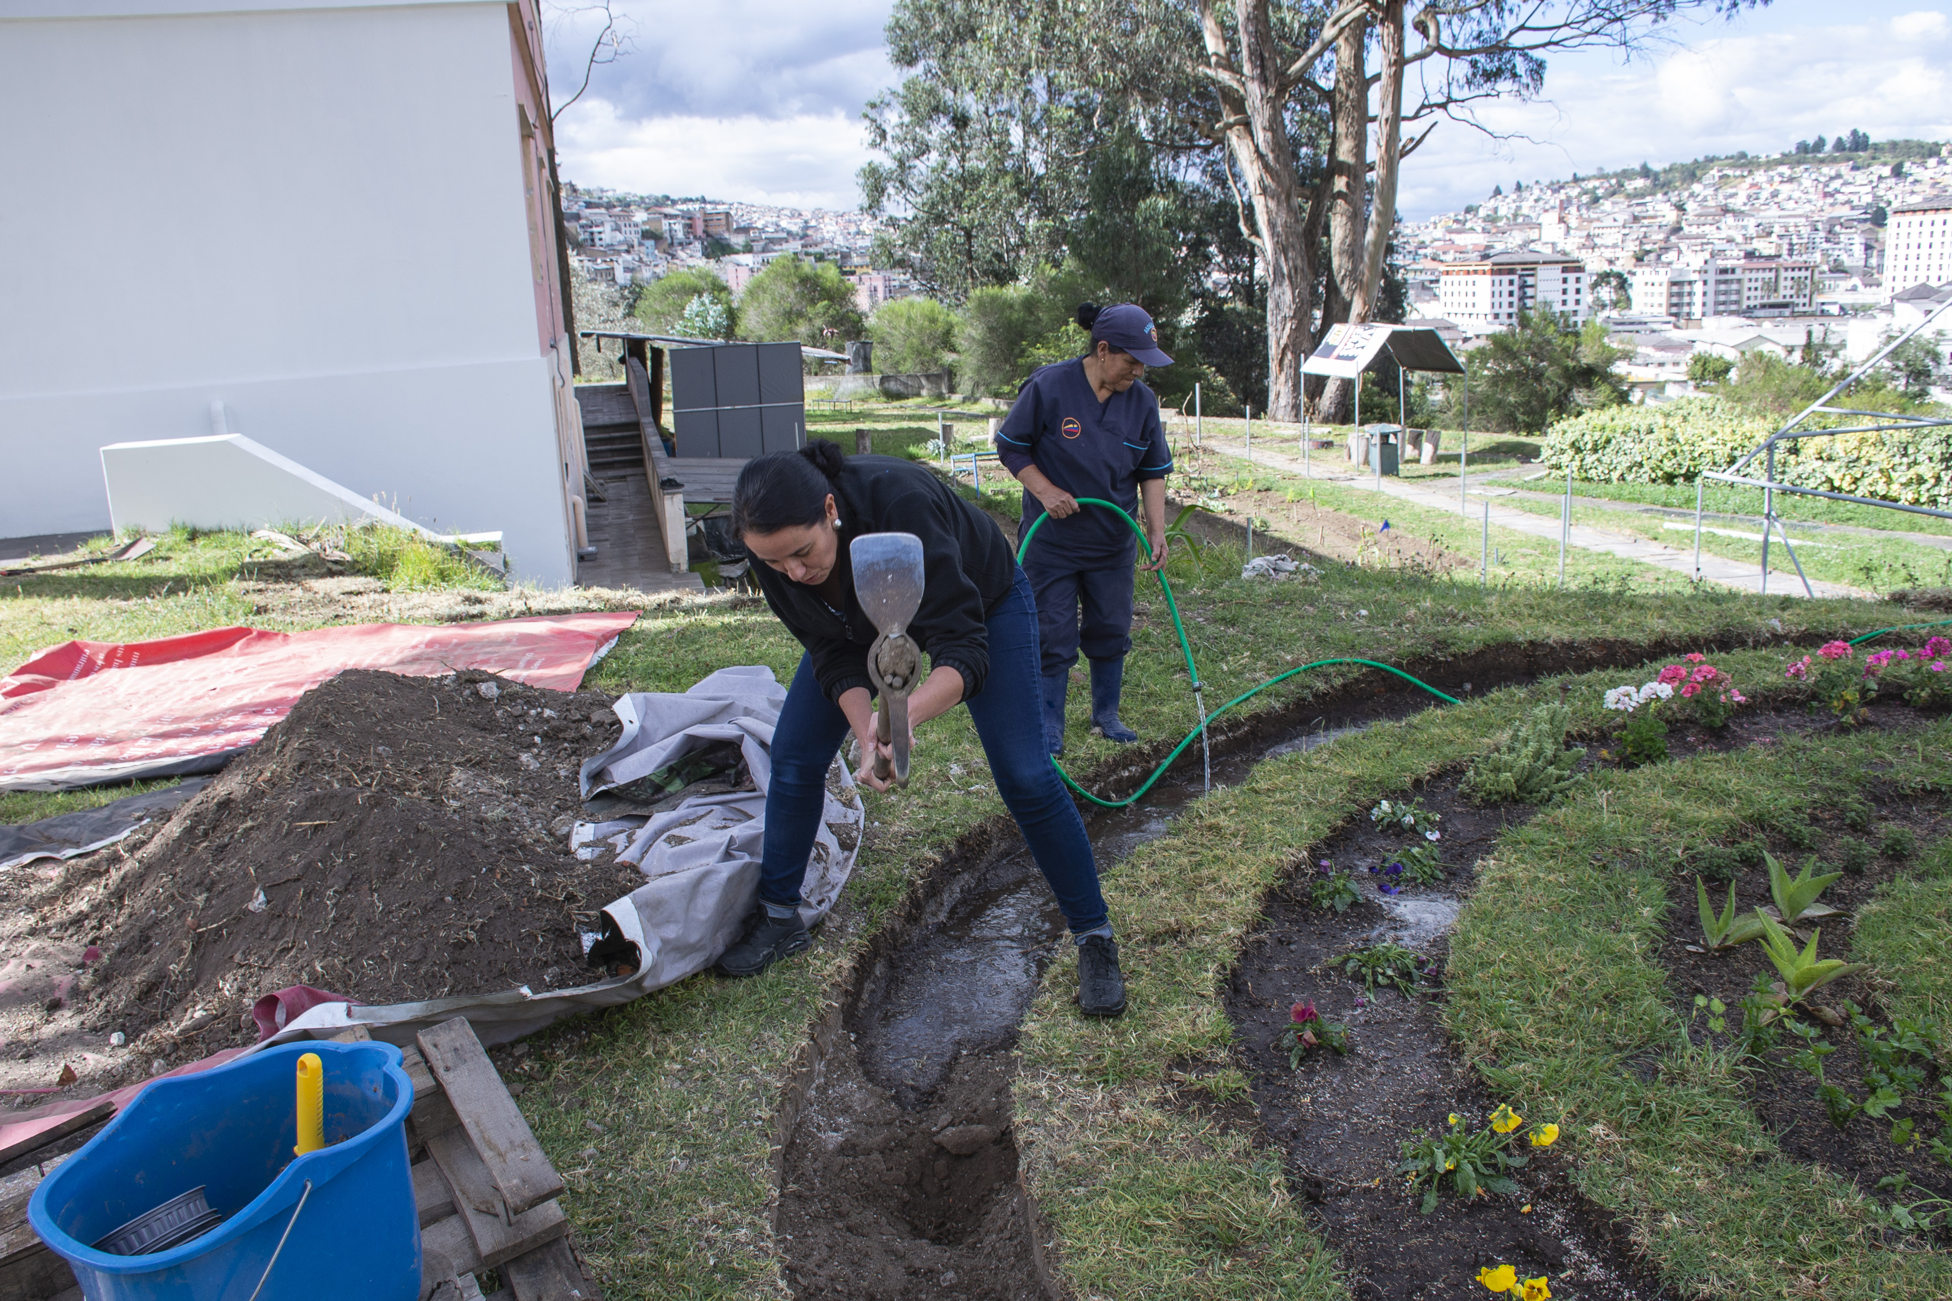
[[[1083,359],[1038,367],[1017,392],[996,435],[997,460],[1011,474],[1035,464],[1074,497],[1117,501],[1138,515],[1138,484],[1165,478],[1173,454],[1159,427],[1159,400],[1144,380],[1105,402],[1085,378]],[[1044,503],[1023,492],[1023,531],[1044,513]],[[1144,521],[1140,521],[1144,523]],[[1070,519],[1052,519],[1037,531],[1031,556],[1056,554],[1079,570],[1130,566],[1138,542],[1130,525],[1109,511],[1079,507]],[[1029,556],[1027,556],[1029,560]]]

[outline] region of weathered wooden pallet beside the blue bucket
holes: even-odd
[[[336,1040],[369,1040],[344,1030]],[[556,1205],[562,1178],[465,1018],[402,1053],[414,1081],[406,1120],[420,1209],[422,1301],[480,1297],[500,1270],[511,1301],[603,1301]],[[27,1225],[27,1194],[0,1203],[0,1301],[80,1301],[66,1262]]]

